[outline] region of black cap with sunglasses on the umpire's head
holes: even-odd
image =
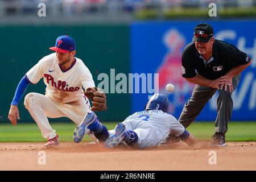
[[[213,36],[213,28],[208,23],[197,24],[192,42],[206,43]]]

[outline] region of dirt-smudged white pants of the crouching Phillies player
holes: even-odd
[[[67,117],[80,125],[84,116],[91,111],[90,102],[85,99],[72,104],[61,104],[47,95],[31,92],[25,97],[24,105],[38,124],[43,137],[48,140],[56,137],[56,131],[52,129],[48,118]]]

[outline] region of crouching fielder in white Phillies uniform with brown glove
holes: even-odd
[[[57,146],[59,136],[49,125],[47,117],[67,117],[80,125],[86,113],[106,108],[106,96],[104,92],[97,91],[89,69],[81,59],[75,57],[75,41],[70,36],[59,36],[55,47],[49,49],[56,53],[43,57],[20,81],[11,103],[9,119],[16,125],[20,98],[29,84],[36,84],[43,77],[46,94],[28,93],[24,105],[38,124],[43,137],[48,140],[45,146]],[[84,90],[90,90],[94,94],[90,98],[94,101],[92,108]],[[98,133],[104,135],[108,130],[101,127]],[[106,137],[108,138],[108,134]]]

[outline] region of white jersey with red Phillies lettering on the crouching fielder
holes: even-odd
[[[84,100],[83,89],[95,86],[92,74],[81,59],[75,57],[71,67],[64,70],[57,63],[56,53],[43,57],[26,77],[32,84],[43,77],[46,96],[62,104]]]

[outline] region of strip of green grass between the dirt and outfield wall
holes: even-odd
[[[104,123],[108,129],[114,129],[116,123]],[[52,128],[57,131],[61,141],[73,141],[74,123],[52,123]],[[214,134],[213,122],[194,122],[187,128],[197,139],[209,140]],[[86,136],[85,140],[90,140]],[[228,141],[256,141],[256,122],[230,122]],[[0,142],[44,142],[36,123],[19,123],[17,126],[10,124],[0,125]]]

